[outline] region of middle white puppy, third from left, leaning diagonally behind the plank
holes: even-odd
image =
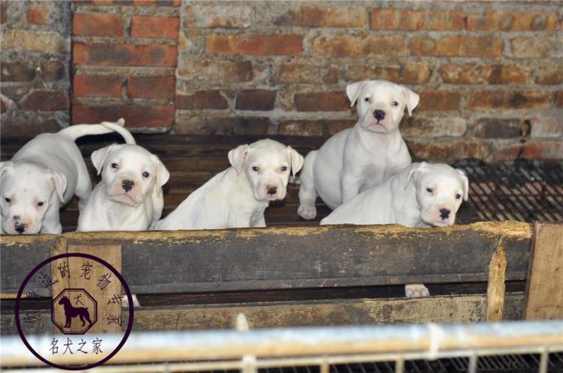
[[[303,157],[274,140],[240,145],[229,152],[232,167],[194,191],[156,229],[219,229],[266,226],[270,201],[284,199],[289,171],[295,174]]]

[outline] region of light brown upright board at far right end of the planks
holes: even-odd
[[[563,224],[537,223],[530,257],[525,319],[563,318]]]

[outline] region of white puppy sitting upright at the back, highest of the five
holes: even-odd
[[[359,120],[307,154],[297,210],[303,219],[315,218],[317,194],[336,209],[411,162],[398,126],[405,108],[410,115],[418,105],[418,95],[386,80],[353,83],[346,94],[351,105],[358,102]]]

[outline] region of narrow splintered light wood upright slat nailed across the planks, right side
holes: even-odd
[[[502,238],[497,251],[492,254],[489,263],[489,281],[487,284],[487,322],[502,320],[505,307],[506,251]]]

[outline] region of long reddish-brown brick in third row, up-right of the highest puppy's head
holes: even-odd
[[[525,84],[530,74],[520,65],[448,64],[441,68],[444,83],[453,84]]]

